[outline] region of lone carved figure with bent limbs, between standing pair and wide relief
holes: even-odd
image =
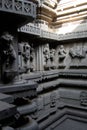
[[[59,61],[63,61],[66,57],[66,50],[64,49],[63,45],[60,45],[59,51],[58,51],[58,56],[59,56]]]

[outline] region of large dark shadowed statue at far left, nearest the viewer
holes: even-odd
[[[4,32],[0,38],[1,79],[11,81],[17,74],[16,51],[13,47],[13,36]]]

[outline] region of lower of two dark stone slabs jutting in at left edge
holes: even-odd
[[[16,114],[16,107],[12,104],[0,101],[0,120],[11,117]]]

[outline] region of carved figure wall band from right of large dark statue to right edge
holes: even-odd
[[[18,44],[19,48],[21,48],[22,51],[19,51],[20,66],[23,68],[30,68],[29,70],[32,71],[87,68],[86,41],[71,43],[68,42],[65,44],[57,43],[55,46],[52,45],[53,43],[49,42],[37,44],[37,46],[35,45],[35,43],[33,43],[33,48],[29,47],[29,50],[23,49],[25,44],[29,45],[29,43]],[[33,50],[32,56],[30,54],[31,50]],[[29,53],[28,55],[30,55],[29,59],[26,58],[27,52]],[[22,53],[26,54],[24,55]],[[33,69],[31,69],[30,66],[32,66]]]

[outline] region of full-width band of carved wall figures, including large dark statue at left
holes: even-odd
[[[1,35],[1,75],[5,73],[10,77],[13,72],[16,75],[56,69],[87,69],[86,40],[56,43],[54,46],[46,41],[35,45],[33,40],[18,42],[17,39],[8,32]]]

